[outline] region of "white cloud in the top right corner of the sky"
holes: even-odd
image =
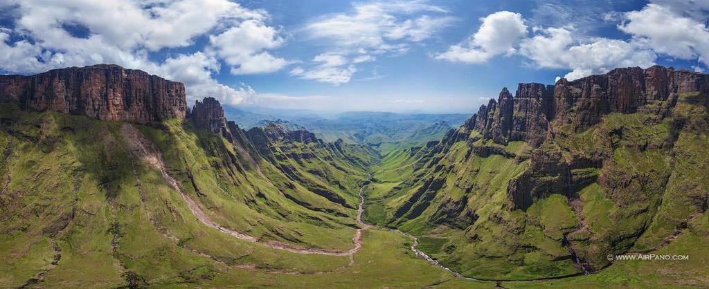
[[[705,1],[696,2],[709,6]],[[698,16],[696,11],[691,14]],[[627,12],[625,20],[618,29],[633,35],[635,41],[652,47],[652,50],[683,60],[698,59],[709,64],[709,29],[702,21],[683,16],[669,6],[659,4],[648,4],[640,11]]]

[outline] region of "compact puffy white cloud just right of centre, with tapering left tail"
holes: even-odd
[[[486,62],[497,55],[513,54],[515,45],[527,34],[527,26],[520,13],[498,11],[480,21],[482,25],[469,40],[452,45],[436,58],[450,62]]]

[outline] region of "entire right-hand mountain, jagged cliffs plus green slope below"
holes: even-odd
[[[707,81],[636,67],[503,89],[440,142],[375,168],[367,217],[423,235],[432,256],[476,278],[583,274],[677,234],[709,241],[697,219],[709,200]]]

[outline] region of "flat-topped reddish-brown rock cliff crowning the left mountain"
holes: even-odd
[[[108,64],[1,75],[0,98],[26,109],[136,123],[184,118],[187,108],[182,83]]]

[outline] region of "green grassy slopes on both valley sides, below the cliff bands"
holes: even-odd
[[[367,147],[277,127],[232,132],[233,143],[190,121],[135,125],[167,174],[223,227],[294,248],[347,250],[359,186],[371,179],[364,220],[416,234],[418,249],[465,276],[496,280],[489,282],[455,278],[416,258],[411,239],[382,229],[365,230],[353,256],[235,238],[198,220],[162,172],[130,152],[125,123],[3,103],[0,287],[702,286],[709,282],[709,249],[698,245],[709,241],[702,103],[705,96],[683,94],[668,118],[606,115],[582,133],[557,124],[537,150],[459,129],[437,145],[381,159]],[[540,150],[586,162],[569,170],[569,192],[545,191],[515,208],[510,180],[533,171]],[[690,259],[606,259],[645,253]],[[581,273],[574,256],[593,273],[574,276]]]

